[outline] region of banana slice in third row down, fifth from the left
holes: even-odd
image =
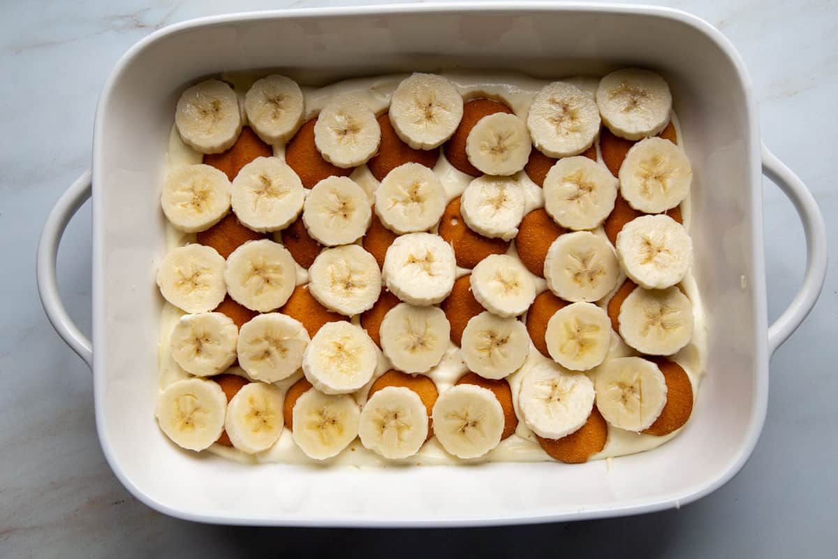
[[[474,298],[501,317],[522,314],[535,300],[532,275],[514,256],[493,254],[478,262],[471,274]]]

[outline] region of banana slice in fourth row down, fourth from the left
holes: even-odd
[[[407,303],[387,311],[379,331],[384,355],[406,373],[425,373],[437,366],[451,337],[451,325],[442,308]]]

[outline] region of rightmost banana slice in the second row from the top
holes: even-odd
[[[620,193],[635,210],[660,214],[690,193],[690,159],[674,143],[647,137],[629,149],[620,165]]]

